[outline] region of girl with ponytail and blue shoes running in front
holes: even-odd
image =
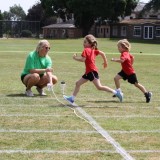
[[[107,86],[102,86],[99,75],[98,75],[98,68],[95,65],[96,56],[100,55],[103,58],[103,66],[104,68],[107,67],[107,58],[104,52],[98,50],[97,48],[97,41],[96,38],[89,34],[85,36],[83,41],[84,50],[81,56],[77,54],[73,55],[73,59],[79,62],[84,62],[86,66],[85,74],[76,82],[75,89],[72,96],[65,96],[64,98],[70,103],[74,104],[75,97],[77,96],[80,87],[82,84],[86,83],[88,80],[93,82],[98,90],[106,91],[113,93],[116,97],[119,98],[120,102],[123,100],[123,93],[119,90],[113,90]]]

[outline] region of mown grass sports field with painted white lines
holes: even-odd
[[[70,108],[62,98],[60,82],[70,95],[84,73],[84,64],[72,59],[81,54],[83,39],[49,40],[54,74],[59,78],[54,93],[24,95],[20,73],[27,54],[38,40],[0,39],[0,160],[158,160],[160,159],[160,45],[131,42],[138,80],[153,93],[151,103],[133,85],[121,81],[124,102],[112,94],[85,84]],[[117,40],[98,39],[106,53],[97,66],[102,84],[115,88],[113,78],[120,64]]]

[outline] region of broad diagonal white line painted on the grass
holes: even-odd
[[[95,128],[108,142],[110,142],[116,149],[116,151],[125,159],[125,160],[133,160],[134,158],[131,157],[126,150],[124,150],[118,142],[116,142],[109,133],[104,130],[89,114],[87,114],[82,108],[76,107],[78,110],[87,120],[88,122]]]

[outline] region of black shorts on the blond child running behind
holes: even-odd
[[[118,75],[120,75],[123,80],[128,80],[129,83],[131,84],[135,84],[135,83],[138,83],[138,80],[137,80],[137,76],[135,73],[131,74],[131,75],[127,75],[126,73],[124,73],[123,70],[121,70]]]

